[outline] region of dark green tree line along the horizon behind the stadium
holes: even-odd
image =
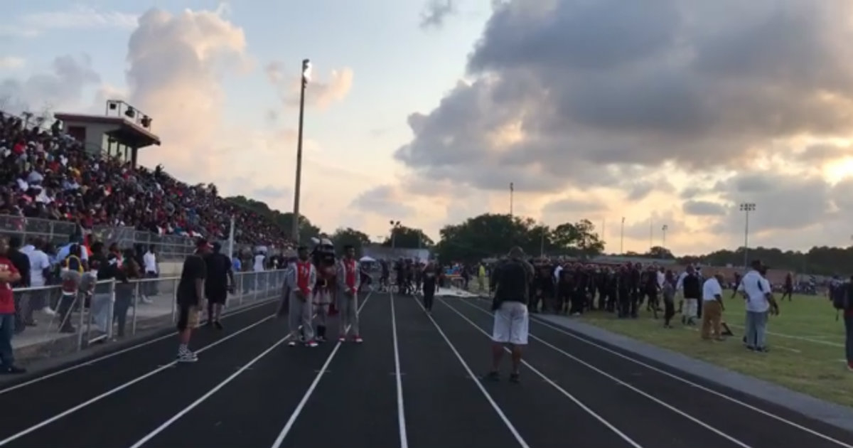
[[[270,218],[290,233],[293,225],[293,213],[270,209],[264,202],[253,201],[244,196],[229,198],[242,207],[252,209],[258,214]],[[331,234],[323,234],[319,227],[305,216],[299,217],[299,239],[310,241],[313,236],[328,235],[335,245],[356,247],[358,253],[369,244],[374,244],[364,232],[352,228],[339,228]],[[393,230],[389,226],[388,236],[381,245],[390,247],[431,248],[442,262],[460,261],[475,263],[481,259],[496,257],[508,253],[509,249],[519,246],[531,256],[569,256],[591,258],[604,255],[605,244],[589,219],[580,219],[575,223],[563,223],[554,227],[538,224],[532,218],[511,216],[508,214],[485,213],[467,218],[460,224],[445,225],[439,231],[438,241],[433,241],[423,230],[398,226]],[[611,255],[618,255],[611,253]],[[676,256],[665,247],[651,247],[645,253],[627,252],[625,256],[654,259],[675,259],[680,264],[701,264],[713,266],[744,264],[744,249],[720,249],[702,255]],[[776,247],[751,247],[746,253],[748,259],[761,259],[771,268],[815,275],[850,275],[853,273],[853,247],[812,247],[807,252],[781,250]]]

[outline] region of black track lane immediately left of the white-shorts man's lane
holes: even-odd
[[[394,299],[409,446],[518,447],[418,299],[396,294]]]

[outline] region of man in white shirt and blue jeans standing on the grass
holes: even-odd
[[[767,319],[769,312],[779,314],[779,306],[773,298],[770,282],[762,275],[766,269],[755,260],[751,269],[743,276],[738,292],[746,299],[746,348],[755,352],[767,352]]]

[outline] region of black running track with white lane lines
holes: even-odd
[[[853,434],[531,319],[521,384],[479,381],[485,300],[362,300],[361,346],[287,346],[261,305],[0,388],[0,445],[853,448]],[[506,359],[508,361],[508,359]]]

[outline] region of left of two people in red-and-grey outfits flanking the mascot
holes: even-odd
[[[314,264],[308,258],[308,247],[300,246],[296,264],[287,271],[287,323],[290,329],[290,341],[288,346],[296,346],[299,338],[299,326],[302,326],[302,337],[305,338],[305,346],[316,347],[314,340],[314,328],[311,326],[311,317],[314,314],[311,306],[313,288],[317,281],[317,271]]]

